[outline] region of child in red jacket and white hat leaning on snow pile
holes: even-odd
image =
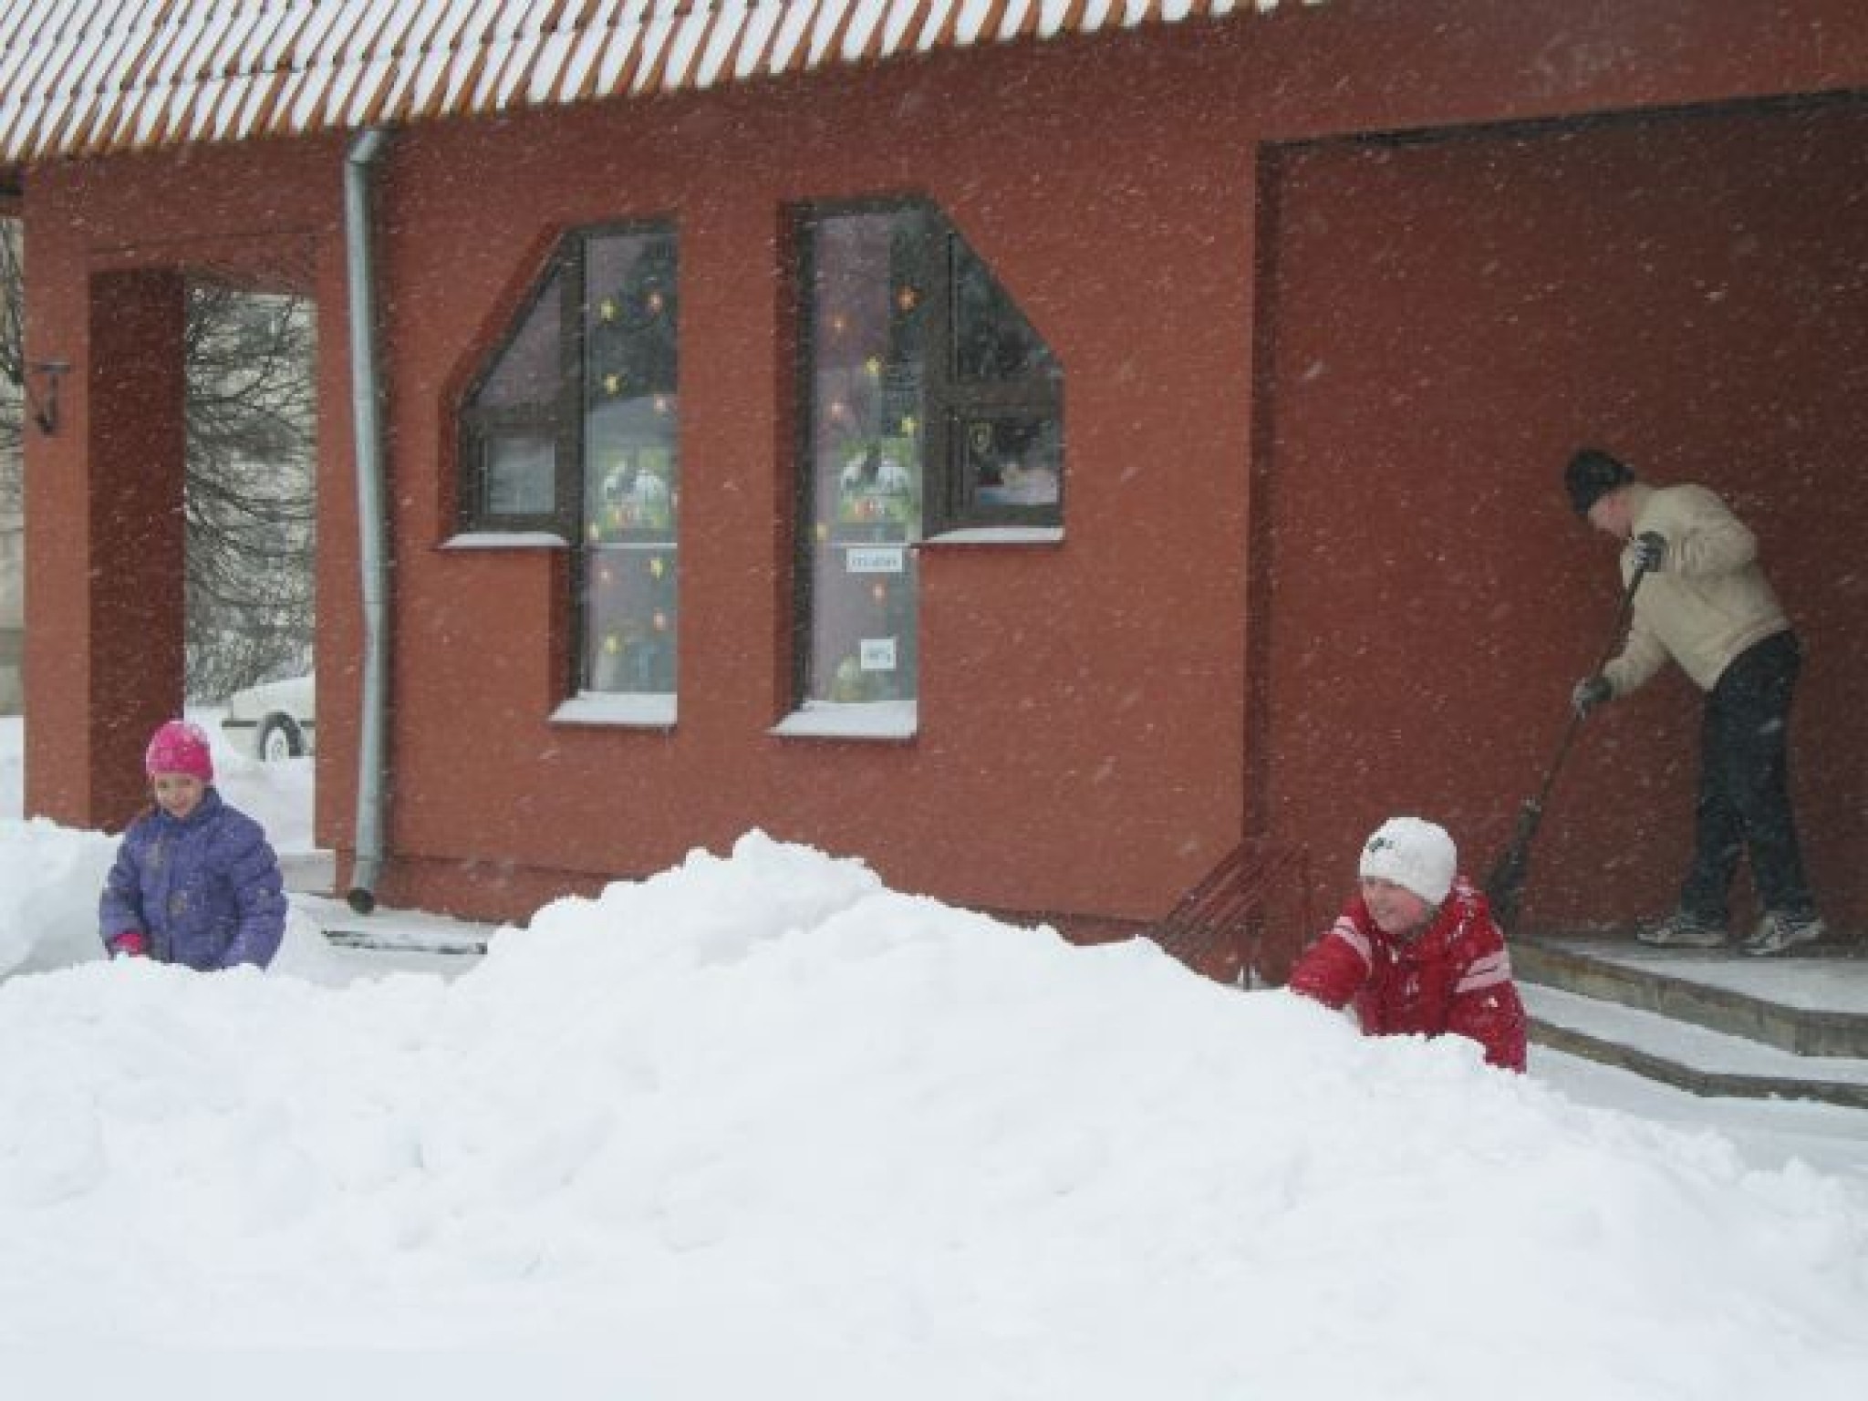
[[[1524,1003],[1485,897],[1444,828],[1390,818],[1362,848],[1360,893],[1291,969],[1291,990],[1354,1005],[1371,1037],[1457,1035],[1524,1068]]]

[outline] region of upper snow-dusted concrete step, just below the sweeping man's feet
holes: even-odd
[[[1747,958],[1633,940],[1517,938],[1521,983],[1655,1012],[1804,1057],[1868,1059],[1868,958]]]

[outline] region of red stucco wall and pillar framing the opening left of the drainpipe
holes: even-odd
[[[58,432],[24,441],[30,813],[118,828],[144,801],[144,742],[181,708],[183,275],[340,310],[340,153],[271,144],[28,174],[26,353],[73,366]],[[344,374],[340,355],[319,364],[319,596],[338,658],[355,635]]]

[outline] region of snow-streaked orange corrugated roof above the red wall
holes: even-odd
[[[930,49],[1276,7],[1278,0],[0,0],[0,163],[712,88]]]

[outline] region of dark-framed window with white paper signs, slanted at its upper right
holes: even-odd
[[[897,725],[874,732],[912,732],[915,545],[958,529],[1061,523],[1063,370],[932,205],[813,209],[798,243],[794,689],[803,712],[887,706]],[[859,732],[865,721],[835,725]]]

